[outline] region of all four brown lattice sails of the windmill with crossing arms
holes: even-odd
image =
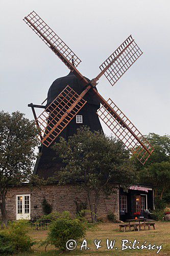
[[[80,58],[63,42],[63,40],[37,15],[31,12],[23,19],[45,44],[64,62],[68,69],[81,81],[84,90],[75,92],[69,84],[47,106],[29,104],[35,123],[39,127],[40,141],[49,147],[68,123],[84,108],[87,103],[85,95],[93,91],[101,103],[99,117],[110,130],[130,149],[132,154],[144,164],[154,151],[150,143],[142,136],[135,125],[126,117],[118,106],[109,98],[107,101],[99,94],[95,86],[102,75],[105,75],[112,86],[141,56],[142,51],[130,35],[100,66],[101,72],[92,80],[85,78],[77,69]],[[42,102],[42,104],[45,101]],[[34,108],[44,111],[37,117]]]

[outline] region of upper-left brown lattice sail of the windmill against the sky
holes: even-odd
[[[40,31],[40,33],[34,28],[32,24]],[[28,16],[23,19],[31,29],[38,34],[38,36],[45,42],[45,44],[52,49],[52,45],[56,47],[71,63],[72,58],[74,59],[74,65],[77,67],[81,59],[65,44],[65,42],[40,18],[35,12],[31,12]],[[42,33],[42,34],[41,34]],[[45,38],[44,38],[45,37]],[[47,40],[46,40],[47,39]],[[51,44],[50,44],[51,43]],[[54,49],[52,49],[54,50]]]

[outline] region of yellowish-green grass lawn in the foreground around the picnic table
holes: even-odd
[[[31,230],[30,236],[36,241],[43,241],[46,237],[46,230]],[[70,251],[69,253],[62,253],[62,255],[157,255],[155,250],[148,249],[122,249],[122,240],[128,239],[129,241],[133,241],[136,239],[137,242],[140,241],[139,246],[142,245],[145,241],[147,241],[146,245],[162,245],[162,249],[160,250],[158,255],[170,255],[170,222],[156,222],[156,229],[153,230],[142,230],[142,231],[127,231],[127,232],[119,232],[118,224],[114,223],[102,223],[95,226],[93,229],[87,231],[86,236],[87,247],[90,249],[80,251],[80,245],[77,246],[77,249]],[[94,239],[102,240],[102,247],[96,250],[94,245]],[[115,246],[111,250],[107,249],[106,240],[115,240]],[[82,239],[83,241],[83,239]],[[129,243],[127,244],[130,245]],[[117,250],[115,249],[117,247]],[[59,251],[56,250],[52,246],[48,246],[46,252],[44,251],[44,246],[39,246],[38,244],[33,246],[33,252],[27,254],[20,255],[58,255]]]

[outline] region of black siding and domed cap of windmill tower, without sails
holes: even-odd
[[[53,82],[52,86],[48,90],[46,106],[49,106],[54,99],[60,95],[68,83],[71,85],[71,89],[78,94],[81,94],[84,90],[81,81],[72,72],[70,72],[67,76],[58,78]],[[96,114],[97,110],[100,108],[98,98],[95,96],[93,91],[89,91],[85,95],[84,100],[86,101],[86,104],[78,113],[78,115],[82,115],[83,123],[77,123],[76,117],[74,117],[65,127],[65,129],[61,131],[60,135],[55,138],[53,143],[58,142],[61,136],[68,139],[69,136],[76,133],[78,127],[80,127],[82,124],[89,126],[91,131],[102,130],[99,117]],[[42,144],[40,147],[40,152],[41,156],[37,159],[34,173],[46,179],[53,176],[53,174],[60,169],[63,164],[59,158],[56,158],[56,154],[52,150],[51,146],[46,147],[44,144]]]

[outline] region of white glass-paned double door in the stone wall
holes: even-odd
[[[16,196],[16,219],[30,220],[30,195]]]

